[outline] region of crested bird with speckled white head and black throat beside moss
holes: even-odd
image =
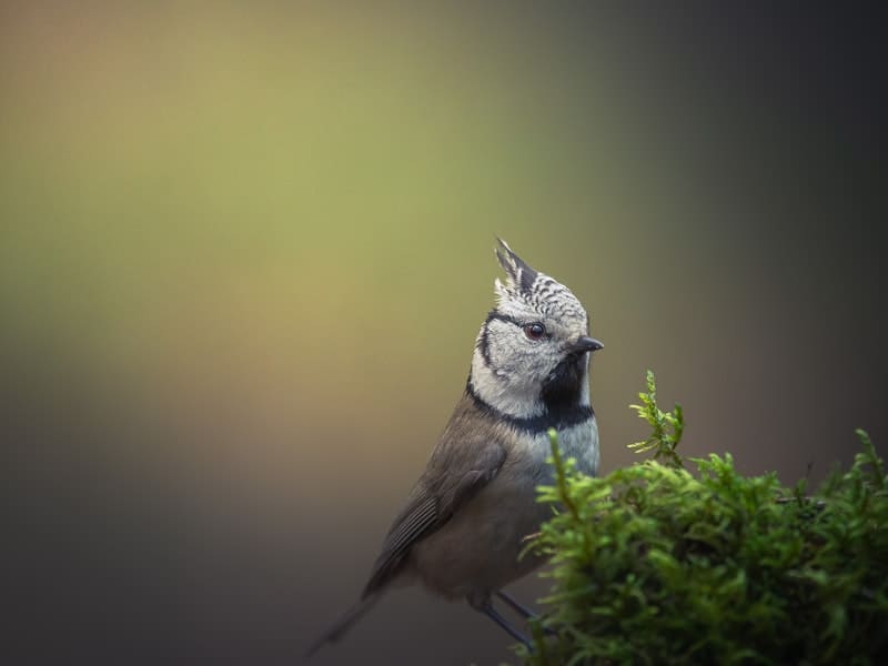
[[[586,311],[569,289],[535,271],[502,240],[496,255],[506,284],[481,326],[462,400],[425,472],[392,523],[361,601],[309,649],[336,642],[393,586],[421,582],[468,604],[527,643],[493,606],[493,596],[525,618],[502,588],[543,564],[518,559],[527,535],[552,509],[536,486],[552,483],[547,430],[566,456],[594,475],[598,427],[589,402]]]

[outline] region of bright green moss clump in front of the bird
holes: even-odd
[[[655,460],[592,478],[551,432],[557,483],[539,501],[555,513],[531,547],[554,586],[525,663],[888,663],[888,478],[866,433],[811,496],[730,454],[692,473],[680,408],[647,384],[635,408],[653,434],[633,446]]]

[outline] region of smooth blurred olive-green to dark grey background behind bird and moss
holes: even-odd
[[[687,455],[888,452],[875,18],[559,7],[0,4],[0,660],[297,663],[463,391],[494,234],[606,345],[605,472],[648,367]],[[507,644],[403,591],[315,663]]]

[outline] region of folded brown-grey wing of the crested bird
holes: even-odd
[[[480,433],[471,438],[481,440]],[[397,573],[413,544],[450,521],[496,476],[505,458],[505,448],[493,438],[463,441],[457,446],[438,445],[407,505],[392,524],[363,596],[385,585]]]

